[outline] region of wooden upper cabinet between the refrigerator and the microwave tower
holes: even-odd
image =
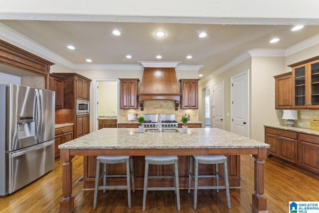
[[[63,109],[64,78],[50,73],[50,90],[55,91],[55,109]]]

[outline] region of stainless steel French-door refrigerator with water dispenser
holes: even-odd
[[[0,84],[0,196],[54,168],[55,92]]]

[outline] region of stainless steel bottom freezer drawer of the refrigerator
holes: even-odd
[[[6,161],[6,194],[11,194],[54,168],[54,140],[7,153]]]

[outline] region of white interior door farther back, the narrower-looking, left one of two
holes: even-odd
[[[213,127],[225,129],[224,81],[213,85]]]

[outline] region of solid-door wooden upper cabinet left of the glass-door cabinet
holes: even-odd
[[[293,107],[293,76],[292,72],[274,76],[275,108],[291,109]]]

